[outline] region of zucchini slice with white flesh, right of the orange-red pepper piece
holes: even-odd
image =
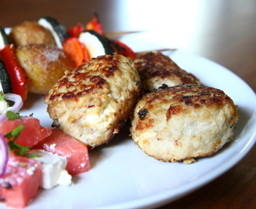
[[[94,30],[85,30],[80,33],[79,41],[85,45],[90,58],[113,53],[108,39]]]

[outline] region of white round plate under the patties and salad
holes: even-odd
[[[189,194],[229,170],[254,146],[256,97],[244,81],[210,60],[176,51],[171,58],[183,69],[211,87],[225,91],[239,105],[240,119],[234,142],[214,156],[196,163],[162,163],[147,156],[130,139],[124,127],[109,145],[89,152],[92,169],[74,177],[71,187],[40,190],[28,209],[150,208]],[[30,94],[22,115],[33,113],[41,125],[50,127],[43,98]],[[0,208],[5,208],[4,204]]]

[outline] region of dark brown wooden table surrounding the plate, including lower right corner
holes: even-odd
[[[161,42],[227,67],[256,91],[256,2],[41,0],[0,2],[0,25],[54,15],[73,26],[98,12],[106,33],[147,30]],[[157,37],[156,37],[157,39]],[[227,78],[228,79],[228,78]],[[256,208],[256,147],[234,168],[165,208]]]

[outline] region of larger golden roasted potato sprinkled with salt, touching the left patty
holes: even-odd
[[[54,45],[31,44],[15,50],[16,60],[28,78],[29,92],[47,94],[50,87],[74,68],[73,61]]]

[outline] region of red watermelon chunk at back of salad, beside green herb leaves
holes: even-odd
[[[0,132],[5,135],[5,133],[11,132],[19,125],[25,125],[25,128],[19,134],[19,138],[16,139],[16,143],[21,146],[32,147],[51,134],[51,129],[43,128],[39,119],[33,118],[33,116],[21,116],[21,118],[2,122],[0,123]]]

